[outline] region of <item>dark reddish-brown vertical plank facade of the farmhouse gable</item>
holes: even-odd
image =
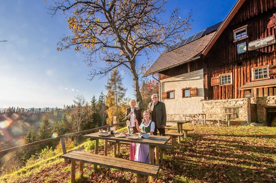
[[[265,65],[275,67],[275,44],[237,54],[238,44],[246,42],[248,46],[251,41],[276,34],[275,13],[274,0],[246,0],[241,5],[204,57],[204,87],[208,91],[208,100],[244,98],[244,92],[249,91],[238,88],[252,81],[252,68]],[[234,41],[233,30],[243,26],[247,27],[247,36]],[[216,79],[225,73],[231,73],[231,84],[217,84]],[[275,75],[270,76],[270,79],[273,78]],[[259,89],[258,96],[272,95],[276,95],[276,88]]]

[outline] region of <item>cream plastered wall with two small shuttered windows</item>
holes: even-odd
[[[197,87],[197,96],[182,98],[182,88]],[[161,91],[174,91],[174,99],[162,99],[168,119],[183,119],[182,114],[201,113],[201,100],[204,99],[203,69],[161,80]],[[174,116],[174,117],[172,117]]]

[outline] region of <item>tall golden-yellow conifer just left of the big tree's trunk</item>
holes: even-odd
[[[127,89],[123,87],[123,78],[117,69],[111,72],[105,88],[107,89],[105,104],[109,107],[107,110],[108,121],[113,120],[113,116],[117,116],[118,121],[123,120],[122,105]]]

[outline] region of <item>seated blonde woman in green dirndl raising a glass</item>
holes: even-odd
[[[151,115],[148,111],[144,111],[143,113],[143,121],[140,125],[138,125],[137,119],[134,119],[136,122],[137,130],[142,130],[143,133],[153,134],[155,124],[151,121]],[[149,161],[149,145],[147,144],[138,144],[136,143],[136,153],[134,161],[140,161],[144,163],[150,163]]]

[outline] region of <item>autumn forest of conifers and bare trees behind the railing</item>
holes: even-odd
[[[146,78],[141,79],[140,83],[143,108],[146,109],[151,95],[158,93],[158,83]],[[98,99],[94,95],[88,102],[83,95],[78,95],[73,99],[73,104],[64,104],[63,108],[6,108],[0,113],[0,150],[104,126],[111,123],[113,116],[117,116],[118,122],[123,122],[125,111],[130,107],[130,98],[125,96],[128,88],[123,86],[119,70],[111,72],[105,89]],[[76,146],[83,139],[77,136],[68,141]],[[14,172],[58,148],[58,141],[52,141],[9,153],[1,158],[0,175]]]

